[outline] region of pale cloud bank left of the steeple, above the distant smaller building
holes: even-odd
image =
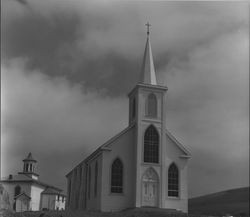
[[[49,174],[59,171],[58,177],[64,177],[86,154],[125,128],[126,99],[86,91],[62,77],[27,72],[26,63],[14,59],[2,67],[2,172],[20,171],[17,165],[31,151],[41,178],[63,186],[64,179]]]

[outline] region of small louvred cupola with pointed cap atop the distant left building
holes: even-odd
[[[36,166],[37,161],[33,158],[31,152],[28,154],[28,156],[23,159],[23,172],[19,174],[25,174],[32,179],[37,180],[38,179],[38,174],[35,173],[35,166]]]

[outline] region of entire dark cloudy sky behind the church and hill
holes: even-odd
[[[167,127],[192,152],[189,196],[249,183],[249,4],[2,1],[2,176],[32,152],[65,174],[128,124],[146,40]]]

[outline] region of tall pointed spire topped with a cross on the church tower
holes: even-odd
[[[154,60],[153,60],[150,37],[149,37],[149,27],[151,25],[149,23],[145,25],[147,26],[147,41],[143,56],[140,82],[145,84],[157,85],[155,77]]]

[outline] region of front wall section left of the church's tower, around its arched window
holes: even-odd
[[[135,206],[135,127],[115,140],[103,152],[101,210],[115,211]],[[116,158],[123,163],[123,193],[111,193],[111,165]]]

